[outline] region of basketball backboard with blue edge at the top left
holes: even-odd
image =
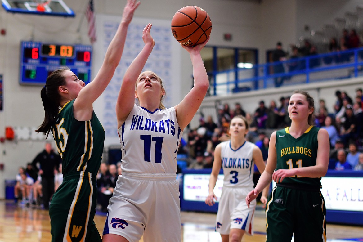
[[[74,17],[63,0],[1,0],[7,12]]]

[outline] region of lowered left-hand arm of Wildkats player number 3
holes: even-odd
[[[209,178],[209,185],[208,185],[208,197],[205,199],[205,203],[209,206],[215,204],[217,200],[217,196],[214,194],[213,190],[216,186],[218,180],[218,174],[221,169],[222,159],[221,159],[221,145],[218,144],[214,150],[214,161],[213,167],[211,172],[211,177]]]

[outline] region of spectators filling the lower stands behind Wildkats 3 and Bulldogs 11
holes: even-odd
[[[363,151],[362,89],[356,89],[355,98],[339,90],[335,95],[336,101],[333,107],[328,108],[325,100],[321,99],[315,108],[315,126],[324,128],[329,133],[331,147],[329,168],[362,170],[363,158],[359,158],[363,156],[360,153]],[[199,127],[188,132],[187,140],[180,145],[178,155],[184,154],[183,160],[187,161],[187,167],[190,169],[211,167],[214,148],[221,141],[229,139],[229,121],[233,116],[241,114],[249,120],[246,139],[260,147],[264,160],[267,160],[270,134],[291,123],[287,111],[289,100],[290,97],[281,97],[279,105],[275,101],[270,101],[268,107],[261,100],[253,114],[245,112],[240,103],[235,103],[233,109],[226,103],[217,110],[216,122],[212,116],[200,118]]]

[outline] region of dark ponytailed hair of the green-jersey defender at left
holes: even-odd
[[[52,124],[56,122],[58,112],[60,110],[60,94],[58,87],[65,85],[65,77],[63,72],[69,70],[68,67],[62,67],[59,70],[55,70],[46,79],[45,86],[40,91],[40,97],[42,98],[44,107],[44,121],[36,130],[36,132],[42,132],[48,137],[49,131],[52,128]]]

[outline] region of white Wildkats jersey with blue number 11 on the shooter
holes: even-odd
[[[118,134],[122,171],[176,173],[176,152],[183,132],[174,107],[151,112],[135,104]]]

